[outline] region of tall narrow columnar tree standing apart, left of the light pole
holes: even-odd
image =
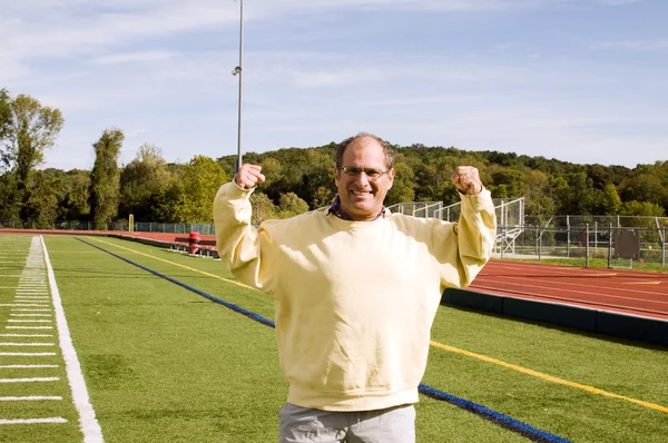
[[[120,129],[105,129],[92,145],[95,165],[90,175],[90,210],[96,229],[106,229],[118,213],[118,157],[125,135]]]

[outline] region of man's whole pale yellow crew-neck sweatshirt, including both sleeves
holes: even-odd
[[[316,210],[259,229],[250,193],[234,183],[218,190],[218,254],[274,297],[287,401],[325,411],[418,402],[441,294],[468,286],[490,257],[490,193],[462,195],[459,224],[401,214],[347,222]]]

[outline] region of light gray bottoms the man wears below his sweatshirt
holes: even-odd
[[[415,443],[412,404],[379,411],[331,412],[286,403],[278,443]]]

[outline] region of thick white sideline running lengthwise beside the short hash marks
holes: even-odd
[[[49,252],[45,244],[43,237],[39,237],[45,254],[45,263],[47,265],[47,275],[49,277],[49,286],[51,287],[51,296],[53,298],[53,308],[56,311],[56,322],[58,325],[58,336],[60,338],[60,348],[62,350],[62,356],[65,357],[65,366],[67,370],[67,377],[69,380],[70,387],[72,388],[72,398],[75,406],[79,412],[79,426],[84,433],[84,442],[104,442],[102,430],[100,424],[95,416],[95,410],[90,404],[88,396],[88,388],[81,373],[81,365],[77,357],[77,351],[72,344],[72,338],[69,333],[67,319],[65,317],[65,311],[62,308],[62,301],[60,299],[60,293],[58,292],[58,284],[56,283],[56,275],[49,260]],[[35,244],[35,238],[33,238]]]

